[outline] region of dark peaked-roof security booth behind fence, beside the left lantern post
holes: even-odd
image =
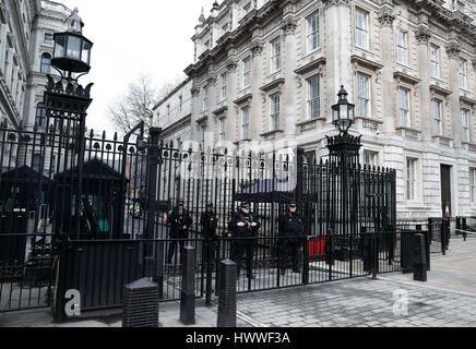
[[[122,174],[104,160],[94,158],[83,166],[81,216],[76,217],[76,168],[55,177],[57,212],[55,233],[73,240],[129,239],[123,236],[120,213],[126,205],[127,188]],[[129,180],[126,180],[127,185]],[[80,220],[80,233],[76,227]]]

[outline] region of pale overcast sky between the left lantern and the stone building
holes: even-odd
[[[115,130],[108,106],[141,73],[154,83],[174,80],[193,61],[191,37],[202,8],[210,14],[214,0],[57,0],[78,7],[84,35],[94,43],[92,71],[83,85],[94,82],[94,103],[87,125]]]

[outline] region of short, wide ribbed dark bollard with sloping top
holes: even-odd
[[[141,279],[124,286],[122,327],[158,327],[158,285]]]

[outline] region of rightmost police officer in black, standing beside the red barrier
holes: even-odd
[[[293,272],[299,273],[299,249],[302,244],[304,222],[298,214],[297,203],[290,203],[287,210],[279,217],[281,274],[288,268],[289,256]]]

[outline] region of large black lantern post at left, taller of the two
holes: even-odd
[[[70,177],[71,183],[69,183],[71,188],[74,188],[71,191],[73,194],[71,196],[74,196],[74,219],[64,219],[68,215],[60,214],[63,207],[55,207],[56,215],[60,216],[56,221],[55,233],[68,233],[76,239],[81,238],[86,116],[87,108],[93,101],[91,98],[93,84],[84,88],[78,82],[91,70],[93,48],[93,43],[82,34],[83,26],[84,23],[78,14],[78,9],[74,9],[67,20],[67,32],[53,35],[55,49],[51,65],[59,72],[60,79],[55,81],[51,75],[47,75],[48,84],[44,97],[47,107],[46,130],[58,134],[60,140],[58,147],[64,147],[58,149],[64,158],[64,165],[62,165],[64,170],[71,166],[71,170],[74,171],[73,165],[76,163],[75,173]],[[58,170],[60,163],[58,159]],[[63,200],[55,202],[58,206],[58,203],[62,203]]]

